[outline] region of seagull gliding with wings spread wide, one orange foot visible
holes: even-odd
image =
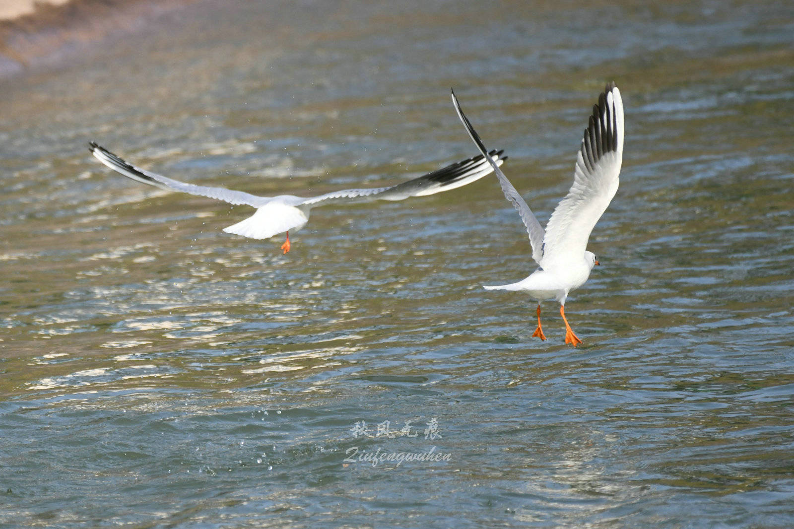
[[[255,207],[256,212],[252,216],[224,228],[223,231],[252,239],[267,239],[287,232],[287,241],[281,245],[283,253],[289,252],[291,248],[290,230],[295,233],[306,226],[306,222],[309,222],[309,212],[313,207],[434,195],[480,180],[483,176],[491,174],[494,167],[499,168],[499,165],[507,160],[507,156],[503,156],[503,151],[492,150],[488,155],[467,158],[395,186],[345,189],[305,198],[294,195],[257,196],[223,187],[205,187],[179,182],[129,164],[94,141],[88,144],[88,150],[102,164],[137,182],[148,183],[167,191],[182,191],[191,195],[223,200],[230,204],[247,204]],[[488,158],[488,161],[485,158]]]

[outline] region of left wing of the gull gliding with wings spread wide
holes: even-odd
[[[232,191],[223,187],[197,186],[192,183],[179,182],[165,176],[158,175],[156,172],[149,172],[145,169],[135,167],[122,160],[104,147],[97,145],[94,141],[88,144],[88,150],[94,157],[109,168],[137,182],[148,183],[151,186],[160,187],[168,191],[182,191],[191,195],[206,196],[210,199],[218,199],[230,204],[248,204],[253,207],[261,207],[268,203],[270,198],[264,196],[251,195],[243,191]]]

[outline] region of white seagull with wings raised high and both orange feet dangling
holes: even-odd
[[[468,136],[485,153],[485,146],[472,124],[468,121],[461,104],[452,92],[452,100]],[[518,283],[486,286],[488,290],[522,290],[538,301],[538,328],[533,337],[545,340],[541,326],[541,302],[557,299],[560,315],[565,322],[565,343],[576,347],[582,341],[573,333],[565,318],[565,299],[569,292],[579,288],[588,280],[593,266],[599,261],[588,252],[588,238],[595,222],[618,191],[620,164],[623,158],[623,102],[615,83],[607,84],[593,106],[588,128],[576,156],[573,185],[568,195],[554,208],[549,222],[543,230],[530,207],[515,190],[510,180],[496,164],[491,164],[499,178],[502,191],[526,226],[532,246],[532,258],[538,269]]]

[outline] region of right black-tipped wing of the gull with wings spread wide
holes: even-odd
[[[491,163],[499,166],[507,160],[503,151],[493,150],[488,153]],[[368,189],[345,189],[332,191],[325,195],[311,197],[303,201],[306,206],[325,206],[326,204],[366,202],[369,200],[403,200],[411,196],[426,196],[449,191],[475,180],[480,180],[493,172],[491,164],[483,155],[477,155],[445,168],[429,172],[407,182],[392,187],[370,187]]]

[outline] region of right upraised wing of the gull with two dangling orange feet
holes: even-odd
[[[593,106],[576,156],[573,185],[546,224],[544,261],[581,257],[595,222],[618,191],[623,159],[623,102],[615,83]]]

